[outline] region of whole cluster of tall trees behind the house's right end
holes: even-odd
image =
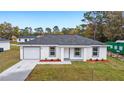
[[[84,14],[83,22],[87,23],[87,29],[93,31],[93,38],[105,42],[122,39],[122,15],[121,12],[91,11]],[[92,25],[92,26],[91,26]],[[120,34],[121,33],[121,34]],[[92,36],[90,36],[92,37]]]

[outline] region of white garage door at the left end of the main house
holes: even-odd
[[[40,59],[40,47],[24,47],[24,59]]]

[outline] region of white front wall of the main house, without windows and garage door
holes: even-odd
[[[63,48],[63,47],[62,47]],[[70,60],[89,60],[89,59],[107,59],[107,47],[100,46],[99,47],[99,56],[92,56],[92,47],[82,47],[81,48],[81,56],[74,56],[74,48],[70,48],[70,54],[68,53],[68,48],[64,48],[64,51],[61,47],[56,46],[56,56],[52,57],[49,55],[49,46],[40,46],[40,59],[64,59],[66,57],[70,57]],[[34,55],[34,54],[33,54]],[[23,59],[23,46],[20,47],[20,59]]]

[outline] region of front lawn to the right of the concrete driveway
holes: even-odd
[[[108,59],[111,62],[37,65],[26,80],[124,80],[124,62],[111,57]]]

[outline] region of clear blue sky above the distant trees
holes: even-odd
[[[46,27],[54,26],[76,27],[82,24],[82,11],[0,11],[0,23],[6,21],[14,26]]]

